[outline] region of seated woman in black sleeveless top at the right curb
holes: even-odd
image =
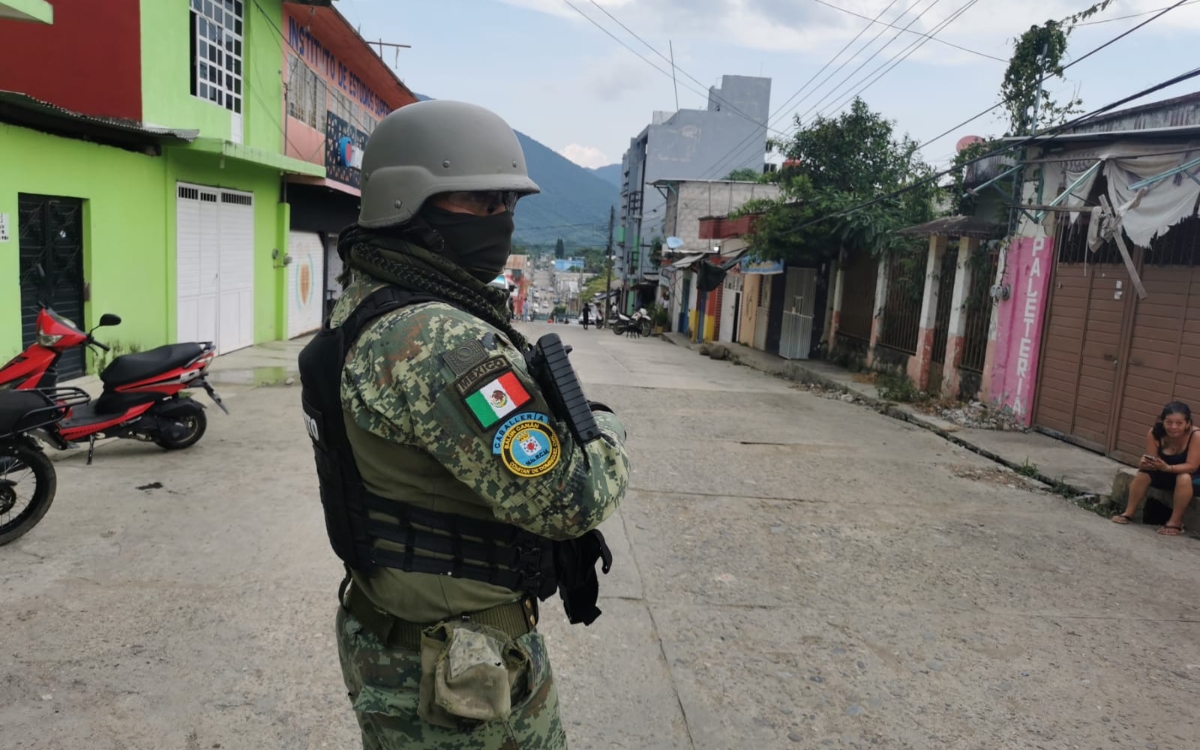
[[[1146,499],[1146,491],[1154,487],[1172,493],[1175,500],[1171,520],[1158,533],[1164,536],[1183,533],[1183,512],[1195,493],[1192,475],[1200,468],[1200,439],[1192,439],[1196,432],[1200,428],[1193,426],[1188,404],[1172,401],[1163,408],[1163,414],[1146,433],[1146,454],[1129,485],[1129,504],[1123,514],[1112,516],[1114,523],[1133,521],[1138,506]]]

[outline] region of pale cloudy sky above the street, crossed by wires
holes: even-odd
[[[773,79],[772,127],[786,131],[794,115],[809,121],[834,114],[862,89],[872,109],[925,142],[996,103],[1018,34],[1092,1],[338,0],[337,7],[365,37],[413,46],[401,50],[396,71],[414,91],[494,109],[572,161],[598,167],[619,162],[654,110],[677,109],[670,64],[650,47],[670,56],[668,42],[674,46],[680,108],[703,108],[707,86],[719,84],[722,73],[764,76]],[[1092,19],[1105,23],[1076,29],[1068,55],[1082,56],[1150,18],[1121,17],[1172,4],[1116,0]],[[905,26],[908,31],[900,30]],[[1078,90],[1086,108],[1099,107],[1195,67],[1198,42],[1200,0],[1193,0],[1067,71],[1061,89],[1064,96]],[[396,61],[390,52],[384,56]],[[1200,79],[1145,101],[1196,90]],[[944,164],[961,136],[1002,130],[996,115],[986,115],[934,140],[924,156]]]

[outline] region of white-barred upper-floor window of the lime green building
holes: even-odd
[[[241,0],[191,0],[192,96],[241,114]]]

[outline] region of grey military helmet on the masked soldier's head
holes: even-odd
[[[541,192],[516,133],[496,113],[464,102],[401,107],[362,152],[362,227],[410,221],[431,196],[460,191]]]

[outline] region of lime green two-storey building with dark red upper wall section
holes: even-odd
[[[0,361],[43,299],[126,347],[286,337],[284,182],[325,169],[284,156],[283,5],[0,0]]]

